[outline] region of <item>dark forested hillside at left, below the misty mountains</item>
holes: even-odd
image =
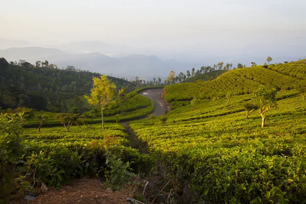
[[[8,64],[4,58],[1,60],[0,106],[3,109],[25,106],[37,110],[66,112],[65,100],[74,99],[80,102],[75,97],[88,94],[92,87],[92,78],[100,75],[74,68],[35,67],[27,62],[16,65]],[[134,90],[131,82],[114,77],[109,79],[117,86],[117,90],[123,86],[127,92]],[[82,106],[82,102],[79,105]],[[84,108],[83,111],[88,111]]]

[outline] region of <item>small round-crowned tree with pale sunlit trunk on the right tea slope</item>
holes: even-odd
[[[276,89],[266,89],[262,85],[252,94],[252,101],[259,108],[259,113],[262,116],[262,128],[265,126],[265,113],[277,107],[276,93]]]

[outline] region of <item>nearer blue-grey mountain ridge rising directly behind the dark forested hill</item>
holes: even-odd
[[[15,47],[0,50],[0,57],[8,61],[27,60],[35,64],[36,61],[49,61],[58,67],[74,66],[77,69],[135,78],[136,75],[144,80],[165,78],[170,70],[186,71],[192,67],[199,67],[197,63],[179,62],[177,60],[161,60],[157,56],[129,55],[125,57],[109,57],[100,53],[67,54],[60,49],[43,47]]]

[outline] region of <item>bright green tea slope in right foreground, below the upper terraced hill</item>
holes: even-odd
[[[246,119],[249,94],[203,100],[165,116],[130,122],[167,169],[203,203],[298,203],[306,192],[306,104],[295,90],[277,93],[278,109]],[[288,200],[286,200],[288,199]],[[238,202],[238,203],[239,203]],[[260,202],[259,202],[260,203]],[[272,202],[271,202],[272,203]]]

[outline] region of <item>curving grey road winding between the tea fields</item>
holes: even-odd
[[[162,99],[162,91],[163,89],[151,89],[139,93],[139,95],[151,98],[154,101],[155,107],[151,114],[155,116],[160,116],[167,112],[164,100]]]

